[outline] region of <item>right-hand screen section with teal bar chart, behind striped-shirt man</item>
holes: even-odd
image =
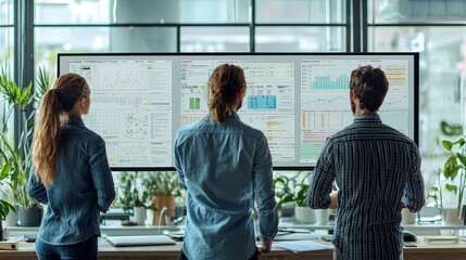
[[[380,67],[389,92],[379,114],[382,121],[408,135],[407,60],[303,60],[301,61],[300,161],[317,161],[325,141],[349,126],[354,117],[350,106],[351,72],[363,65]]]

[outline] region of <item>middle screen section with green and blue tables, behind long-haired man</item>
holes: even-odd
[[[276,161],[294,161],[294,61],[182,60],[180,62],[181,125],[209,114],[209,78],[221,64],[244,72],[247,93],[238,115],[267,136]]]

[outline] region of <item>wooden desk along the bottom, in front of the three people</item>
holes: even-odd
[[[404,248],[404,260],[464,260],[466,242],[455,244],[427,244],[419,236],[417,247]],[[2,260],[37,260],[34,243],[20,243],[18,250],[0,250]],[[104,238],[99,239],[99,259],[101,260],[175,260],[181,243],[174,246],[113,247]],[[269,253],[261,255],[261,260],[330,260],[332,250],[293,253],[274,247]]]

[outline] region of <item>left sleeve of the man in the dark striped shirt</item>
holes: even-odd
[[[314,209],[326,209],[330,206],[331,187],[336,178],[335,168],[331,164],[328,144],[324,146],[314,173],[311,177],[310,188],[307,191],[307,206]]]

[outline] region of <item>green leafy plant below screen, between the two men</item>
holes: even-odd
[[[299,171],[295,176],[279,174],[274,178],[277,208],[284,204],[294,203],[298,207],[306,207],[306,196],[312,171]]]

